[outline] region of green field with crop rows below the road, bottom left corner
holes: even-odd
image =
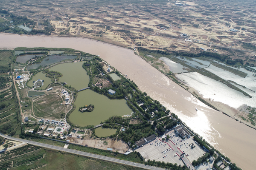
[[[23,154],[23,155],[21,155]],[[11,156],[15,156],[12,158]],[[6,152],[0,157],[0,169],[6,170],[143,170],[108,161],[91,159],[70,153],[48,150],[32,145],[26,145],[16,150]]]

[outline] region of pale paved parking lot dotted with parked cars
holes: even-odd
[[[205,151],[198,144],[195,144],[195,141],[192,138],[183,140],[180,136],[178,136],[174,132],[174,130],[167,132],[163,137],[165,137],[166,135],[172,136],[169,139],[169,141],[166,141],[166,140],[164,141],[167,144],[164,142],[161,142],[162,137],[157,137],[154,141],[149,142],[148,144],[145,144],[143,147],[138,148],[136,151],[140,152],[143,158],[147,160],[150,159],[155,161],[164,161],[166,163],[170,162],[172,164],[177,163],[181,165],[183,165],[183,162],[180,160],[180,155],[184,151],[185,153],[184,160],[186,162],[189,160],[187,162],[188,166],[191,166],[191,163],[193,160],[197,160],[200,156],[203,156],[205,153]],[[189,146],[189,144],[192,144],[192,143],[195,144],[194,148]],[[168,144],[174,150],[172,150]],[[177,156],[175,156],[176,153],[177,153]]]

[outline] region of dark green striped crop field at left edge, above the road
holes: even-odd
[[[10,75],[0,77],[0,131],[11,136],[21,133],[19,108]]]

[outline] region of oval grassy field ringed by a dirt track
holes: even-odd
[[[62,99],[57,94],[49,94],[39,97],[34,102],[34,114],[38,117],[44,117],[53,113],[61,112],[64,105],[61,105]]]

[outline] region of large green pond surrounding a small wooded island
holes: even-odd
[[[84,127],[87,125],[99,125],[111,116],[123,116],[131,114],[132,110],[126,104],[125,99],[108,99],[107,96],[98,94],[90,89],[80,91],[74,103],[76,109],[70,114],[69,119],[73,124]],[[92,112],[79,111],[84,105],[94,105]]]

